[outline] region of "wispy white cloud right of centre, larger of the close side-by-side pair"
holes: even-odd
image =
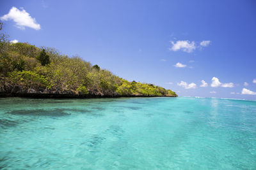
[[[195,41],[176,41],[173,42],[173,41],[170,41],[172,43],[172,48],[169,48],[169,50],[172,50],[172,51],[178,51],[178,50],[183,50],[184,52],[193,52],[193,50],[196,49],[196,46],[195,46]]]

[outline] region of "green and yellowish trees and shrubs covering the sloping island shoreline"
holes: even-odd
[[[2,24],[0,24],[0,30]],[[28,92],[99,96],[177,96],[148,83],[127,81],[80,57],[62,55],[54,48],[10,43],[0,34],[0,85]],[[0,92],[4,93],[4,88]]]

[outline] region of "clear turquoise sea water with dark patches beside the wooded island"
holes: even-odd
[[[256,102],[0,98],[0,169],[256,169]]]

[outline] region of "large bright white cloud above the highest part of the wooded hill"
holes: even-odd
[[[1,20],[13,20],[19,29],[25,29],[25,27],[31,27],[33,29],[41,29],[40,24],[36,23],[36,19],[32,18],[28,12],[23,8],[20,10],[16,7],[12,7],[8,14],[0,18]]]

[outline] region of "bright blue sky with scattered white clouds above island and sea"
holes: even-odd
[[[72,2],[72,3],[70,3]],[[10,41],[179,96],[256,100],[256,1],[0,1]]]

